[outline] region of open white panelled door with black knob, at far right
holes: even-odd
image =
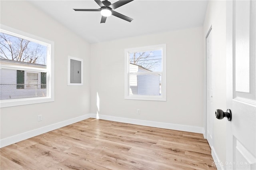
[[[232,121],[226,124],[225,166],[256,170],[256,1],[227,1],[226,22],[226,109]]]

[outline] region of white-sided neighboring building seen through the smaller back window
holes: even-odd
[[[130,63],[130,73],[152,72],[140,65]],[[160,75],[130,75],[130,94],[133,95],[160,95]]]

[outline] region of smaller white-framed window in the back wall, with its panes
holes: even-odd
[[[166,44],[125,49],[125,99],[166,101]]]

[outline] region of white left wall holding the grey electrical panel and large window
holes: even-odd
[[[90,111],[90,44],[26,1],[1,1],[1,24],[55,43],[55,101],[1,108],[1,140]],[[67,86],[68,55],[84,59],[84,85]],[[38,122],[38,115],[43,121]]]

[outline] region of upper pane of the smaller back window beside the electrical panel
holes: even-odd
[[[162,71],[162,50],[129,53],[129,72]]]

